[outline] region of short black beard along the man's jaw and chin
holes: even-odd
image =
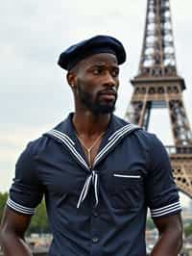
[[[81,102],[84,104],[84,107],[89,110],[93,115],[112,114],[115,111],[116,98],[112,104],[101,104],[98,94],[96,95],[95,100],[93,100],[92,95],[82,90],[79,83],[77,89],[78,96],[80,97]]]

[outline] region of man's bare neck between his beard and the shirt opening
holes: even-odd
[[[93,115],[90,112],[73,115],[73,125],[77,133],[84,137],[94,137],[106,132],[111,114]]]

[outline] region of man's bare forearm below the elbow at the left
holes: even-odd
[[[29,246],[23,239],[12,233],[1,233],[1,246],[5,256],[32,256]]]

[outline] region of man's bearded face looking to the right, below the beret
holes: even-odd
[[[92,114],[114,111],[118,86],[119,67],[113,54],[95,54],[78,64],[75,95]]]

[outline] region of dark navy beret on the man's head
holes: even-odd
[[[96,36],[67,48],[60,54],[58,64],[63,69],[70,70],[86,57],[98,53],[114,54],[118,64],[123,64],[126,61],[126,51],[119,40],[108,36]]]

